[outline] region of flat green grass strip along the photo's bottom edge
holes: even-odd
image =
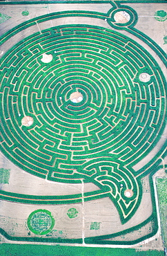
[[[139,251],[135,249],[119,248],[88,248],[69,246],[32,246],[23,244],[2,244],[0,246],[1,256],[164,256],[164,251],[148,250]]]

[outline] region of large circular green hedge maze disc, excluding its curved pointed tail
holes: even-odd
[[[71,39],[68,45],[66,44],[67,38]],[[50,43],[50,39],[53,43]],[[73,43],[70,44],[74,42],[74,39],[76,39],[75,46]],[[83,42],[84,39],[86,40]],[[86,42],[87,45],[84,46]],[[90,44],[92,42],[94,42],[93,47]],[[23,46],[26,47],[23,48]],[[83,51],[85,51],[84,54]],[[123,55],[125,52],[126,58]],[[43,63],[41,62],[43,53],[52,54],[55,59],[48,64]],[[135,60],[130,57],[132,53]],[[137,53],[144,54],[143,62],[137,59],[135,55]],[[83,59],[79,59],[81,54]],[[91,64],[93,56],[98,58],[96,67]],[[10,60],[8,67],[4,64],[6,60]],[[14,77],[10,75],[10,63],[15,71]],[[19,63],[19,68],[17,63]],[[22,69],[21,63],[23,63]],[[121,66],[122,63],[125,64]],[[132,64],[137,65],[139,71]],[[54,65],[57,65],[57,70],[52,69]],[[90,69],[86,70],[86,65]],[[142,141],[141,131],[145,126],[143,123],[142,127],[142,120],[148,118],[148,113],[150,113],[150,119],[144,120],[149,128],[145,135],[148,136],[150,144],[144,144],[145,151],[141,152],[141,158],[146,156],[151,146],[159,140],[164,125],[165,92],[164,85],[161,87],[159,85],[161,77],[158,77],[157,66],[153,57],[132,39],[112,30],[104,31],[103,28],[95,26],[59,26],[43,30],[42,35],[36,33],[23,39],[2,58],[1,68],[6,74],[2,75],[1,79],[3,153],[23,170],[37,176],[45,178],[49,174],[49,179],[52,180],[80,182],[80,179],[85,179],[89,182],[84,171],[83,173],[76,172],[78,164],[80,169],[81,164],[86,163],[89,158],[97,158],[98,154],[114,156],[116,162],[121,161],[121,163],[126,163],[126,159],[128,161],[131,159],[132,163],[139,155],[138,152],[142,151],[142,145],[139,145]],[[30,73],[31,68],[35,70],[32,73]],[[78,79],[76,75],[78,68],[81,70],[81,79]],[[148,72],[155,82],[154,88],[151,80],[150,91],[147,93],[144,88],[146,83],[142,84],[139,81],[139,73],[144,71]],[[90,80],[92,76],[93,80]],[[35,79],[38,81],[37,84],[35,84]],[[148,83],[146,85],[148,86]],[[83,94],[83,100],[79,104],[69,99],[70,93],[75,91],[76,87],[79,87],[79,92]],[[90,88],[94,90],[93,93]],[[103,88],[103,93],[101,88]],[[147,100],[144,100],[146,113],[144,112],[145,116],[142,116],[142,113],[139,113],[139,107],[144,98]],[[9,102],[9,107],[6,107],[6,101]],[[90,104],[92,109],[89,107]],[[142,106],[145,106],[144,104]],[[72,112],[76,114],[68,122]],[[112,115],[113,112],[115,116]],[[21,116],[16,118],[18,113]],[[30,127],[21,126],[23,116],[33,118],[34,122]],[[91,132],[90,139],[88,134],[83,135],[87,141],[82,142],[81,137],[77,137],[77,134],[81,132],[81,125],[91,127],[94,118],[97,120],[95,123],[97,127],[93,130],[93,134],[96,134],[96,131],[99,132],[98,126],[103,127],[105,122],[105,129],[101,129],[105,131],[105,135],[101,133],[103,145],[100,145],[98,137],[93,136]],[[159,120],[162,120],[160,127],[157,125]],[[47,131],[43,129],[43,125]],[[134,127],[132,141],[130,141],[132,134],[128,132],[130,125]],[[71,145],[68,138],[74,129],[75,134],[73,134]],[[135,129],[138,129],[137,132]],[[108,140],[110,132],[114,133],[112,140]],[[55,134],[57,134],[56,138]],[[122,139],[125,137],[126,141]],[[132,148],[129,148],[132,143]],[[126,147],[124,147],[125,144]],[[70,152],[72,152],[72,158],[70,158]],[[68,161],[66,161],[67,158]],[[21,163],[21,159],[24,164]]]

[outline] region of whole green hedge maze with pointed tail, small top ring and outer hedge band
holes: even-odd
[[[135,11],[126,8],[131,15],[126,24],[115,24],[115,12],[112,8],[103,17],[110,29],[55,26],[25,37],[3,55],[1,150],[21,169],[43,179],[94,183],[99,190],[86,192],[85,201],[109,196],[124,224],[141,202],[141,177],[159,164],[156,156],[141,175],[132,168],[163,134],[166,81],[153,56],[121,33],[128,30],[148,42],[132,28]],[[153,44],[153,50],[156,47]],[[10,195],[2,192],[2,199],[35,203],[31,196]],[[81,201],[81,194],[55,196],[55,203]]]

